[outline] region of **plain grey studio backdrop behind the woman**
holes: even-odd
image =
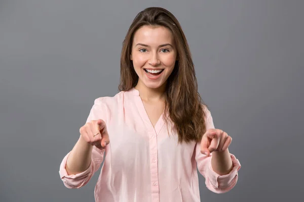
[[[0,1],[0,201],[94,201],[59,177],[94,99],[118,92],[123,38],[159,6],[180,21],[199,91],[233,137],[236,187],[202,201],[303,198],[304,1]],[[301,199],[300,199],[301,198]]]

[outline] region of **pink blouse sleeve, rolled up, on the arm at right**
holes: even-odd
[[[212,116],[209,110],[206,113],[206,129],[214,128]],[[229,174],[219,175],[213,169],[211,165],[212,153],[209,157],[201,153],[201,144],[196,144],[196,162],[199,172],[205,177],[206,187],[215,193],[225,193],[230,191],[238,181],[238,171],[241,168],[241,164],[233,154],[230,154],[233,169]]]

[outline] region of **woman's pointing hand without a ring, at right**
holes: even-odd
[[[220,129],[209,129],[202,137],[201,153],[207,156],[213,151],[224,151],[231,144],[232,138]]]

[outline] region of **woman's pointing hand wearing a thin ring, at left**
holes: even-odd
[[[101,119],[86,123],[79,131],[87,143],[97,148],[103,149],[110,142],[105,122]]]

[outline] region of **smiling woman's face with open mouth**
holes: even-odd
[[[176,61],[176,48],[171,31],[157,26],[142,26],[133,38],[132,53],[138,85],[159,88],[173,71]]]

